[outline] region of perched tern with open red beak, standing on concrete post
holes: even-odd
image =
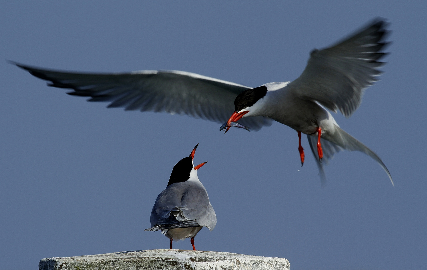
[[[194,237],[203,228],[215,228],[216,215],[209,202],[208,193],[197,177],[197,170],[207,162],[194,166],[196,148],[189,157],[181,159],[173,167],[169,183],[156,199],[151,211],[152,228],[145,231],[161,231],[172,241],[191,238],[193,250]]]

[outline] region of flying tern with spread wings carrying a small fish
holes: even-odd
[[[307,135],[322,183],[326,179],[323,164],[345,149],[372,157],[393,184],[377,154],[340,129],[328,111],[339,110],[350,117],[360,106],[364,90],[378,80],[382,74],[378,68],[384,64],[378,60],[386,55],[381,51],[388,44],[384,42],[385,27],[386,22],[377,18],[336,45],[314,49],[304,72],[292,83],[267,83],[257,88],[184,71],[91,74],[12,63],[50,81],[48,86],[73,89],[68,95],[111,102],[109,108],[187,114],[225,122],[221,127],[225,132],[232,126],[257,131],[275,120],[298,132],[301,165],[305,158],[301,133]]]

